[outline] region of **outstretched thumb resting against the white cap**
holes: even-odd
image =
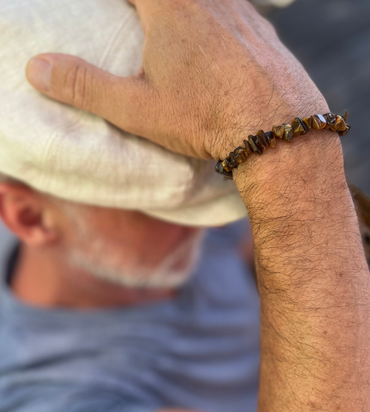
[[[94,113],[131,133],[142,134],[144,76],[121,78],[66,54],[39,54],[29,60],[28,81],[40,92],[60,102]],[[137,108],[140,107],[140,115]]]

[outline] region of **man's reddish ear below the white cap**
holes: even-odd
[[[20,240],[45,246],[58,239],[47,199],[21,184],[0,183],[0,216]]]

